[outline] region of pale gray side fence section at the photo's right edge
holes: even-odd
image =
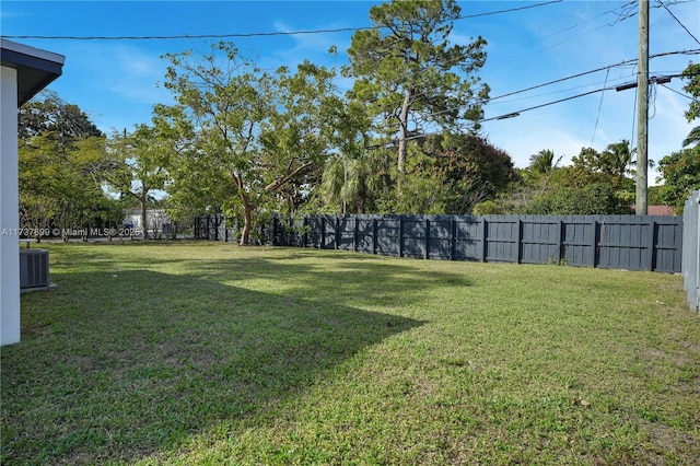
[[[690,311],[700,311],[700,191],[686,200],[682,219],[684,287],[688,293]]]

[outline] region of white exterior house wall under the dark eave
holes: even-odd
[[[10,345],[20,341],[18,72],[0,69],[0,345]]]

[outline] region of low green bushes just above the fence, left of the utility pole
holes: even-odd
[[[630,213],[629,203],[622,201],[609,184],[583,187],[559,187],[535,196],[523,208],[523,213],[540,215],[592,215]]]

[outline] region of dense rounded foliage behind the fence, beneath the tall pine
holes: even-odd
[[[417,139],[408,149],[405,174],[385,148],[358,159],[330,159],[324,201],[337,212],[345,200],[346,211],[357,213],[469,213],[517,176],[508,153],[474,133]]]

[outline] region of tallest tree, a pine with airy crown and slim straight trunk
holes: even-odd
[[[392,0],[370,9],[372,30],[358,31],[348,50],[349,95],[366,103],[375,130],[397,141],[406,173],[408,141],[428,130],[464,130],[481,118],[489,88],[475,73],[486,40],[451,44],[460,9],[454,0]]]

